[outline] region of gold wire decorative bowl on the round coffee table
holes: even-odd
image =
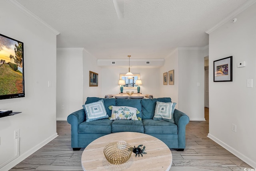
[[[110,143],[104,147],[103,153],[110,163],[120,165],[130,159],[132,146],[124,142]]]

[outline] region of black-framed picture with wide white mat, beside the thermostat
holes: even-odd
[[[213,81],[232,81],[232,56],[213,61]]]

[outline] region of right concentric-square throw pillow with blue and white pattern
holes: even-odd
[[[156,109],[153,120],[165,120],[174,123],[173,113],[176,103],[156,101]]]

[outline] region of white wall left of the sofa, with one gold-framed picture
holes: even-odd
[[[98,86],[89,86],[89,71],[98,73]],[[69,114],[82,109],[87,97],[100,97],[101,77],[101,68],[96,66],[96,59],[84,48],[58,48],[57,120],[67,120]]]

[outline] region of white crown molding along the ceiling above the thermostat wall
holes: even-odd
[[[256,2],[256,0],[248,0],[247,2],[245,2],[244,4],[242,4],[242,6],[238,7],[234,12],[232,12],[229,16],[227,16],[226,18],[224,18],[224,20],[222,20],[221,22],[219,22],[218,24],[216,24],[213,28],[208,29],[207,31],[205,31],[205,33],[210,34],[212,31],[216,30],[217,28],[219,28],[220,26],[222,26],[223,24],[225,24],[228,21],[231,21],[236,15],[240,14],[242,11],[246,10],[249,6],[251,6],[252,4],[254,4]]]

